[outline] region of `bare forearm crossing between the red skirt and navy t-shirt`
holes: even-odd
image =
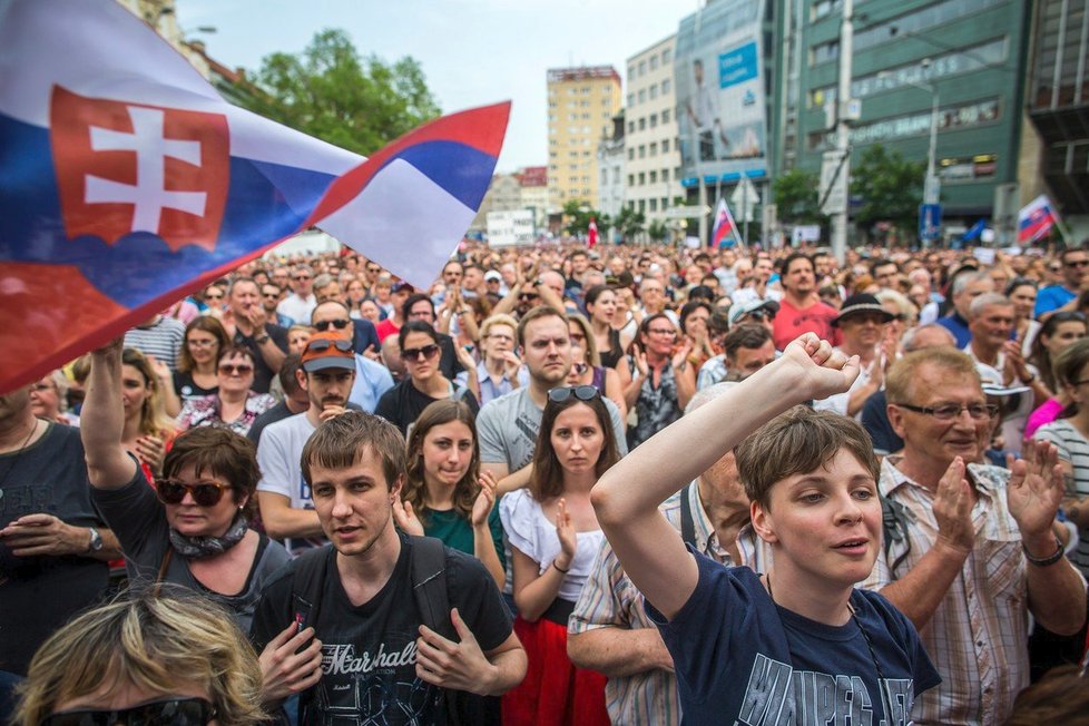
[[[624,678],[660,669],[669,658],[655,628],[628,630],[622,627],[593,628],[567,636],[567,656],[579,668],[597,670],[609,678]]]

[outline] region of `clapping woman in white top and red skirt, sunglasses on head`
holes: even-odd
[[[529,656],[503,696],[508,724],[608,724],[601,674],[567,657],[567,619],[601,546],[590,490],[619,458],[608,409],[590,385],[552,389],[533,473],[499,502],[513,558],[514,632]]]

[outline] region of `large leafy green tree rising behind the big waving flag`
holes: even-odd
[[[266,118],[359,154],[373,154],[439,116],[420,63],[361,58],[343,30],[323,30],[298,55],[272,53],[244,97]]]

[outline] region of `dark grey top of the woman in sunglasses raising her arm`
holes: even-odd
[[[129,578],[154,582],[170,547],[169,524],[166,508],[144,479],[144,472],[137,469],[133,481],[120,489],[95,489],[91,498],[121,543]],[[176,551],[163,581],[184,586],[218,602],[234,615],[243,632],[249,632],[261,591],[269,577],[290,559],[283,544],[261,534],[246,585],[237,595],[223,595],[206,588],[193,577],[186,559]]]

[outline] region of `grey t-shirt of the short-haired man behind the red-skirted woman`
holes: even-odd
[[[612,419],[620,455],[628,453],[620,411],[612,401],[602,398]],[[480,460],[484,463],[506,463],[514,472],[533,460],[537,434],[544,410],[537,408],[529,387],[518,389],[485,403],[477,414],[477,435],[480,439]]]

